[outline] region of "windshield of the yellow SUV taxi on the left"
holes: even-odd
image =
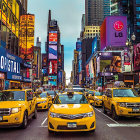
[[[25,101],[25,92],[24,91],[0,92],[0,102],[3,101]]]

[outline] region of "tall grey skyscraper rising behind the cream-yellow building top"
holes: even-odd
[[[103,22],[103,0],[85,0],[86,26],[100,26]]]

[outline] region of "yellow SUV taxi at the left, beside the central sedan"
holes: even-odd
[[[26,128],[30,118],[37,118],[37,102],[32,89],[0,91],[0,127]]]

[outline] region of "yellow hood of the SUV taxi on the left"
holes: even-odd
[[[3,101],[0,102],[0,108],[16,108],[25,105],[25,101]]]

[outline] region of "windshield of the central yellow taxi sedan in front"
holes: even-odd
[[[54,104],[88,104],[83,94],[63,94],[57,96]]]

